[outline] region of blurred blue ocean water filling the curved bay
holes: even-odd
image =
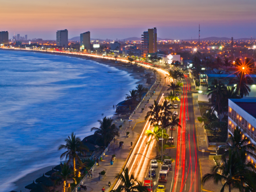
[[[113,105],[136,82],[95,61],[0,50],[0,192],[14,190],[13,182],[28,173],[59,164],[63,151],[57,147],[64,139],[71,132],[81,139],[92,134],[97,120],[112,117]]]

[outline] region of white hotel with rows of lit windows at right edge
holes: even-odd
[[[233,135],[234,128],[238,125],[244,137],[248,137],[256,145],[256,98],[229,99],[228,133]],[[251,151],[256,155],[255,151]],[[248,160],[256,159],[248,156]]]

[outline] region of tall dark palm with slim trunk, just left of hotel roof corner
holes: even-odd
[[[221,99],[223,98],[223,95],[226,93],[227,88],[225,85],[219,80],[214,79],[214,81],[211,83],[211,86],[208,87],[207,93],[208,97],[211,96],[211,101],[213,103],[217,103],[218,106],[218,120],[220,121],[220,103]]]

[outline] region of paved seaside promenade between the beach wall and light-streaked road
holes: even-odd
[[[120,136],[116,139],[116,141],[112,144],[110,149],[106,152],[105,156],[103,157],[102,161],[99,162],[99,166],[96,166],[93,170],[93,178],[87,178],[83,184],[87,186],[87,192],[91,191],[98,191],[101,192],[102,187],[105,187],[106,192],[110,190],[114,181],[116,180],[116,176],[120,173],[122,168],[124,167],[129,154],[132,151],[132,147],[135,145],[136,139],[138,135],[140,135],[142,128],[146,121],[144,117],[148,112],[148,107],[154,104],[154,100],[161,98],[162,95],[159,95],[163,85],[165,84],[165,79],[162,74],[158,74],[159,77],[162,76],[161,83],[159,87],[156,89],[156,93],[150,99],[150,95],[147,96],[145,99],[145,104],[147,104],[147,109],[142,112],[142,108],[145,108],[145,105],[142,103],[140,107],[136,110],[136,113],[132,116],[131,127],[129,127],[129,123],[123,124],[123,129],[120,131]],[[165,85],[166,86],[166,85]],[[146,103],[147,99],[149,99],[149,103]],[[126,132],[130,132],[129,138],[126,137]],[[123,148],[119,148],[119,142],[123,141],[124,145]],[[133,145],[131,146],[131,142]],[[114,161],[113,165],[110,165],[110,159],[112,155],[116,155],[116,160]],[[102,181],[99,180],[99,172],[102,170],[106,171],[106,176],[103,178]],[[111,187],[108,187],[108,182],[111,182]],[[82,190],[83,191],[83,190]]]

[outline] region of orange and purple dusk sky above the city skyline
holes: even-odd
[[[157,27],[160,38],[256,38],[256,0],[0,0],[0,31],[28,38],[69,38],[91,31],[91,38],[141,37]]]

